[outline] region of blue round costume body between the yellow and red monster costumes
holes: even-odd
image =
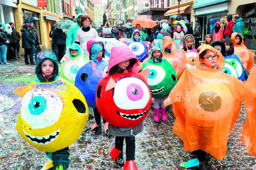
[[[95,101],[96,88],[108,70],[108,62],[90,61],[76,74],[75,86],[83,93],[89,107],[97,108]]]

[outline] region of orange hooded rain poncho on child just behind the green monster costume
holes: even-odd
[[[170,44],[172,44],[172,47],[171,47],[172,52],[170,54],[166,54],[164,50]],[[169,36],[164,36],[164,39],[162,42],[162,48],[163,48],[164,58],[172,65],[172,67],[174,68],[177,74],[177,78],[179,80],[188,62],[185,51],[183,49],[177,50],[177,44],[172,40],[172,37],[169,37]]]

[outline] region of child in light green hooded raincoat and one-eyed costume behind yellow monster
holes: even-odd
[[[89,58],[84,55],[84,50],[76,43],[70,44],[66,53],[67,59],[60,66],[60,77],[74,84],[76,73],[89,62]]]

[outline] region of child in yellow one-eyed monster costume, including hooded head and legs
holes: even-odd
[[[82,93],[80,94],[80,91],[74,85],[60,78],[58,73],[59,68],[56,55],[52,52],[41,52],[36,63],[37,79],[25,90],[16,128],[23,139],[29,144],[39,151],[47,151],[45,152],[46,156],[52,160],[54,170],[66,170],[70,161],[68,159],[68,146],[74,143],[81,135],[86,124],[85,122],[88,120],[88,106],[85,99],[83,99]],[[52,91],[52,88],[55,91]],[[80,98],[75,99],[68,90]],[[65,99],[65,96],[59,96],[60,92],[68,95],[68,99]],[[59,97],[63,98],[67,105],[63,104]],[[78,107],[76,107],[75,101],[79,101]],[[54,112],[54,114],[51,112]],[[62,115],[62,112],[65,113]],[[71,116],[70,112],[72,112]],[[71,119],[72,116],[74,120]],[[78,122],[78,120],[82,121]],[[73,123],[76,124],[76,128],[74,128]],[[56,126],[55,124],[58,125]],[[63,124],[65,124],[64,127]],[[58,130],[55,131],[56,129]],[[75,134],[76,132],[77,134]],[[45,135],[45,133],[51,134]],[[32,134],[33,137],[31,137]],[[72,134],[72,137],[68,139],[65,136],[67,134],[68,136]]]

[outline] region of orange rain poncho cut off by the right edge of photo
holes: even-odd
[[[244,105],[247,120],[244,124],[240,139],[243,141],[247,151],[256,157],[256,68],[254,67],[245,83]]]

